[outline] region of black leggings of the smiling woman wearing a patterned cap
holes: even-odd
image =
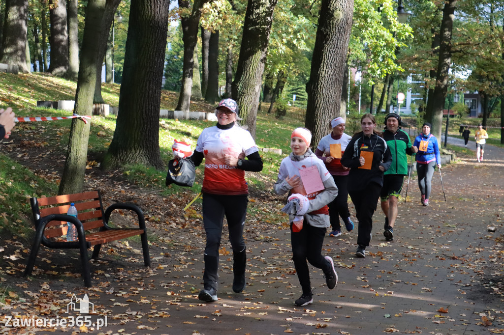
[[[206,289],[217,290],[219,270],[219,247],[222,237],[224,215],[229,229],[229,241],[233,248],[233,271],[235,275],[245,273],[245,241],[243,228],[247,211],[247,195],[203,194],[203,225],[207,235],[205,246],[205,273],[203,283]]]

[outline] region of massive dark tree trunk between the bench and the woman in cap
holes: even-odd
[[[105,169],[135,163],[163,168],[159,152],[159,107],[169,4],[168,0],[131,2],[119,113],[104,159]]]

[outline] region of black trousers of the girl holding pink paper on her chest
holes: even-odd
[[[327,228],[313,227],[305,221],[301,231],[293,232],[291,222],[290,232],[292,260],[294,261],[299,284],[303,294],[311,294],[310,272],[306,260],[312,266],[322,269],[324,273],[331,270],[331,264],[322,256],[322,244],[324,243]]]

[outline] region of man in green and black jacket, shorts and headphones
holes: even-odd
[[[385,117],[383,138],[392,154],[392,164],[383,176],[381,192],[382,210],[385,213],[384,236],[388,241],[394,240],[394,224],[397,217],[397,198],[403,188],[404,176],[408,174],[408,158],[418,152],[418,148],[411,144],[409,135],[401,130],[401,117],[390,113]]]

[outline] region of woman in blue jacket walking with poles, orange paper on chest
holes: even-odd
[[[441,156],[439,155],[439,145],[437,138],[430,133],[432,125],[424,122],[422,133],[415,138],[413,146],[418,148],[416,153],[416,170],[418,172],[418,187],[422,194],[421,202],[423,206],[429,205],[430,183],[434,174],[434,167],[437,165],[441,169]]]

